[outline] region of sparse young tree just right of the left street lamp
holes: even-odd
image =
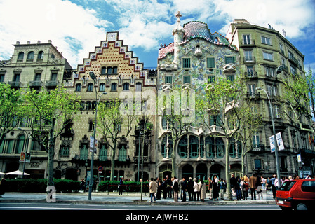
[[[128,137],[131,130],[133,130],[132,124],[135,120],[133,97],[131,97],[130,102],[132,103],[123,104],[119,99],[116,99],[110,102],[101,102],[98,106],[98,129],[107,147],[112,149],[111,181],[114,180],[115,155],[118,141]],[[127,113],[128,111],[130,113]]]

